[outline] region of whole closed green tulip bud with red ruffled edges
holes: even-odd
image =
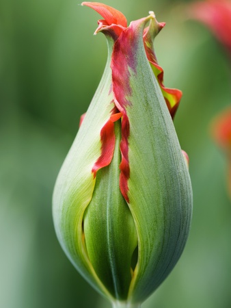
[[[102,80],[59,172],[55,230],[72,264],[115,307],[139,307],[178,261],[192,192],[172,117],[181,92],[163,86],[154,13],[127,27],[119,11],[84,2],[105,18]],[[172,117],[171,117],[172,116]]]

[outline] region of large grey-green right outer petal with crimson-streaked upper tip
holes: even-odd
[[[147,21],[131,23],[116,41],[112,55],[114,99],[129,121],[126,200],[139,248],[128,295],[133,303],[144,301],[178,261],[189,233],[192,204],[189,172],[144,50]]]

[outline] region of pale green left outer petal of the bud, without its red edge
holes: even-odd
[[[110,296],[90,264],[83,238],[83,215],[96,179],[92,168],[101,153],[100,131],[111,116],[111,44],[105,72],[59,172],[53,193],[57,238],[72,264],[100,293]],[[97,115],[97,116],[96,116]]]

